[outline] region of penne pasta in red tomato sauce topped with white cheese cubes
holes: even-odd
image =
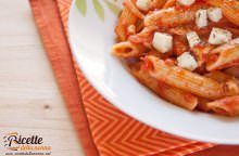
[[[125,0],[113,55],[190,110],[239,116],[239,1]]]

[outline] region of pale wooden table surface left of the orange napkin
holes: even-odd
[[[52,156],[83,156],[27,0],[0,0],[0,155],[11,131],[38,134]]]

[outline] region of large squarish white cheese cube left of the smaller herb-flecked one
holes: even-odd
[[[152,44],[159,52],[166,53],[173,48],[173,37],[168,34],[155,32]]]

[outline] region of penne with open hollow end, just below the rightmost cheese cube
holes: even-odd
[[[207,57],[206,69],[215,70],[239,65],[239,38],[212,50]]]

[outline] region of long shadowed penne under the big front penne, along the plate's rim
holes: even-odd
[[[196,95],[152,78],[142,69],[142,67],[137,69],[133,67],[131,74],[139,80],[139,82],[150,88],[164,100],[177,106],[192,110],[198,105],[198,98]]]

